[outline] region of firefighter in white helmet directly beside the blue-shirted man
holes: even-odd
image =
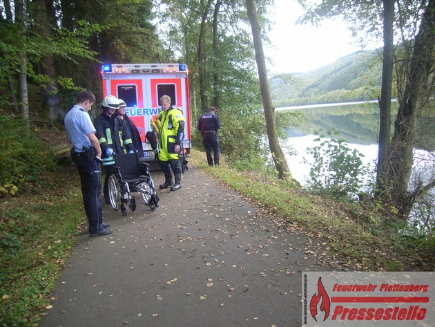
[[[116,154],[133,153],[133,141],[126,130],[115,128],[115,120],[112,115],[115,110],[119,109],[119,102],[113,95],[108,95],[101,103],[101,113],[94,120],[94,126],[97,130],[97,138],[101,146],[102,158],[108,158]],[[108,191],[108,179],[113,174],[113,165],[105,165],[106,178],[104,178],[104,199],[107,204],[110,204],[110,196]]]

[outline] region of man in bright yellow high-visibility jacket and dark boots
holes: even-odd
[[[163,110],[157,117],[161,124],[158,135],[160,146],[158,159],[164,172],[164,184],[160,185],[160,189],[171,187],[171,191],[177,191],[177,189],[181,189],[180,153],[183,151],[185,120],[182,111],[171,106],[171,97],[168,95],[163,95],[160,98],[160,105]],[[175,177],[174,185],[172,185],[171,169]]]

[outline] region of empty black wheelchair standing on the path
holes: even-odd
[[[114,210],[121,209],[127,214],[128,207],[136,210],[136,196],[140,193],[145,204],[152,210],[159,206],[159,197],[155,191],[153,178],[148,169],[148,163],[141,162],[139,153],[115,154],[114,173],[109,176],[108,191],[110,204]]]

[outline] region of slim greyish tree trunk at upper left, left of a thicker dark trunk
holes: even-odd
[[[24,24],[23,0],[14,1],[15,21],[19,24],[20,38],[23,48],[21,49],[21,65],[18,74],[19,112],[23,120],[29,119],[28,89],[27,89],[27,54],[26,54],[26,25]]]

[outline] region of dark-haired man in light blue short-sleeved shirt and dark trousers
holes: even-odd
[[[109,223],[103,223],[101,209],[101,169],[97,160],[101,148],[95,136],[95,127],[88,111],[95,102],[95,96],[88,90],[77,93],[77,104],[65,115],[65,128],[72,144],[71,157],[80,175],[81,194],[89,223],[90,236],[112,234]],[[97,158],[96,158],[97,157]]]

